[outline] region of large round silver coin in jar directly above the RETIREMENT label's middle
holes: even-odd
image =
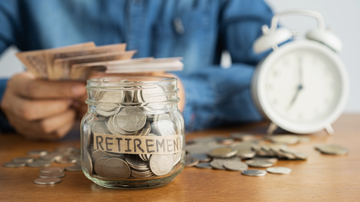
[[[123,108],[115,116],[117,117],[117,125],[122,130],[129,132],[140,130],[146,123],[146,114],[143,114],[139,108]]]

